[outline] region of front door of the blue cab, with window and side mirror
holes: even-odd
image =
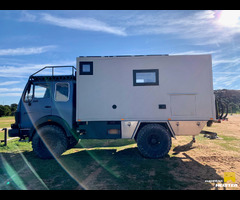
[[[21,128],[31,128],[38,119],[52,114],[51,83],[28,84],[22,99]]]

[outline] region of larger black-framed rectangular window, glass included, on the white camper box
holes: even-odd
[[[158,69],[133,70],[133,86],[159,85]]]

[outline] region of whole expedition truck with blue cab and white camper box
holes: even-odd
[[[172,137],[195,136],[216,118],[211,55],[76,60],[76,68],[32,74],[19,101],[9,136],[28,137],[40,158],[58,157],[79,139],[121,138],[161,158]],[[54,73],[67,67],[71,75]]]

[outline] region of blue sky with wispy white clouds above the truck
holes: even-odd
[[[0,27],[0,105],[78,56],[211,54],[214,89],[240,89],[237,10],[0,10]]]

